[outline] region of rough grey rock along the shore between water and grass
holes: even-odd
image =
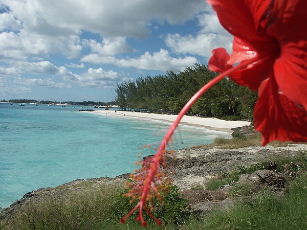
[[[177,185],[182,190],[192,209],[195,212],[206,214],[212,209],[225,208],[233,202],[226,198],[225,191],[212,192],[206,190],[206,182],[214,175],[237,170],[238,166],[249,167],[252,164],[267,162],[268,160],[272,161],[276,158],[299,156],[301,150],[307,150],[307,145],[291,144],[287,147],[278,148],[269,145],[266,147],[250,146],[230,150],[218,147],[181,149],[176,151],[177,165],[172,166],[172,160],[170,160],[169,165],[177,172],[176,175],[171,175],[174,185]],[[20,205],[37,197],[50,194],[65,194],[66,191],[77,189],[72,186],[83,181],[120,184],[124,183],[127,178],[129,178],[129,173],[115,178],[76,179],[62,185],[60,190],[41,188],[25,194],[23,198],[11,204],[10,208],[4,209],[3,212],[13,212]]]

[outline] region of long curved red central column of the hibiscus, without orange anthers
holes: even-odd
[[[245,68],[248,65],[258,61],[260,58],[258,56],[246,60],[232,68],[230,68],[229,70],[223,72],[222,74],[218,75],[217,77],[215,77],[214,79],[212,79],[211,81],[209,81],[206,85],[204,85],[187,103],[186,105],[181,109],[180,113],[178,114],[178,117],[176,118],[176,120],[171,124],[170,128],[168,129],[167,133],[165,134],[163,141],[161,142],[159,149],[157,151],[157,153],[153,156],[152,158],[152,162],[150,163],[150,167],[148,169],[148,171],[146,172],[147,175],[145,175],[144,180],[139,184],[139,191],[141,191],[142,195],[140,198],[139,203],[135,206],[135,208],[133,210],[131,210],[122,220],[121,222],[124,223],[125,219],[127,217],[129,217],[134,211],[136,211],[137,208],[139,208],[140,212],[139,212],[139,216],[138,216],[138,220],[140,220],[142,222],[142,225],[146,225],[146,222],[143,220],[143,215],[142,215],[142,208],[144,206],[144,209],[146,210],[146,212],[152,217],[152,215],[150,214],[149,210],[147,208],[145,208],[146,205],[146,197],[147,195],[150,193],[150,188],[151,185],[153,183],[155,183],[155,178],[156,175],[159,171],[159,165],[161,163],[161,159],[163,157],[163,155],[165,154],[165,152],[167,151],[167,143],[168,141],[171,139],[171,136],[173,135],[175,129],[177,128],[177,126],[179,125],[181,119],[183,118],[183,116],[187,113],[187,111],[191,108],[191,106],[195,103],[196,100],[198,100],[204,93],[206,93],[206,91],[208,89],[210,89],[212,86],[214,86],[215,84],[217,84],[218,82],[220,82],[222,79],[224,79],[226,76],[230,75],[231,73],[234,73],[238,70],[240,70],[241,68]],[[158,220],[156,218],[153,218],[159,225],[161,224],[161,220]]]

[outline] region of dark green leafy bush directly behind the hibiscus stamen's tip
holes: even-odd
[[[169,186],[169,192],[161,194],[163,196],[162,204],[158,199],[153,199],[153,211],[152,215],[158,219],[161,219],[165,223],[171,223],[176,225],[183,224],[189,217],[190,212],[187,205],[187,200],[185,200],[182,195],[179,193],[179,188],[177,186]],[[138,203],[138,200],[135,200],[133,203],[130,203],[129,197],[123,197],[122,195],[127,193],[128,189],[120,191],[117,195],[117,209],[119,213],[127,214],[130,212]],[[148,205],[149,206],[149,203]],[[146,212],[143,212],[144,219],[146,221],[154,222]],[[135,212],[131,217],[135,219],[138,216],[138,212]],[[120,218],[122,218],[121,216]]]

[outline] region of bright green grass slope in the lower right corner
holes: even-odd
[[[225,212],[214,212],[195,221],[189,229],[307,229],[307,176],[301,175],[288,185],[284,198],[271,191],[247,197]]]

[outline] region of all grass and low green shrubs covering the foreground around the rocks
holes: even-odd
[[[258,134],[251,139],[258,140]],[[236,137],[229,142],[247,140]],[[228,142],[219,143],[220,147],[229,146]],[[158,202],[153,206],[155,215],[163,220],[162,225],[152,221],[146,229],[306,229],[306,154],[300,150],[298,157],[285,156],[215,175],[207,181],[206,192],[223,192],[234,203],[230,208],[212,210],[206,215],[191,212],[187,191],[172,186],[164,206]],[[261,182],[237,183],[240,175],[262,169],[270,170],[271,175],[259,176]],[[192,190],[202,192],[204,188]],[[38,191],[39,196],[9,212],[3,210],[0,229],[144,229],[135,218],[120,223],[131,208],[129,205],[134,205],[122,196],[125,192],[123,182],[91,181]]]

